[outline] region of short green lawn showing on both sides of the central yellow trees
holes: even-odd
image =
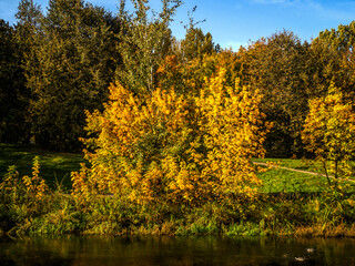
[[[81,154],[48,152],[34,146],[18,146],[0,144],[0,180],[7,173],[10,165],[17,165],[20,175],[30,175],[33,157],[40,156],[40,174],[50,187],[55,187],[57,181],[62,182],[64,188],[71,188],[70,173],[80,170],[80,163],[84,162]],[[322,173],[320,165],[312,165],[304,160],[291,158],[255,158],[255,162],[280,162],[280,166]],[[327,180],[323,176],[291,172],[283,168],[272,168],[257,174],[263,180],[261,191],[275,192],[320,192],[327,186]],[[349,183],[355,191],[355,183]]]

